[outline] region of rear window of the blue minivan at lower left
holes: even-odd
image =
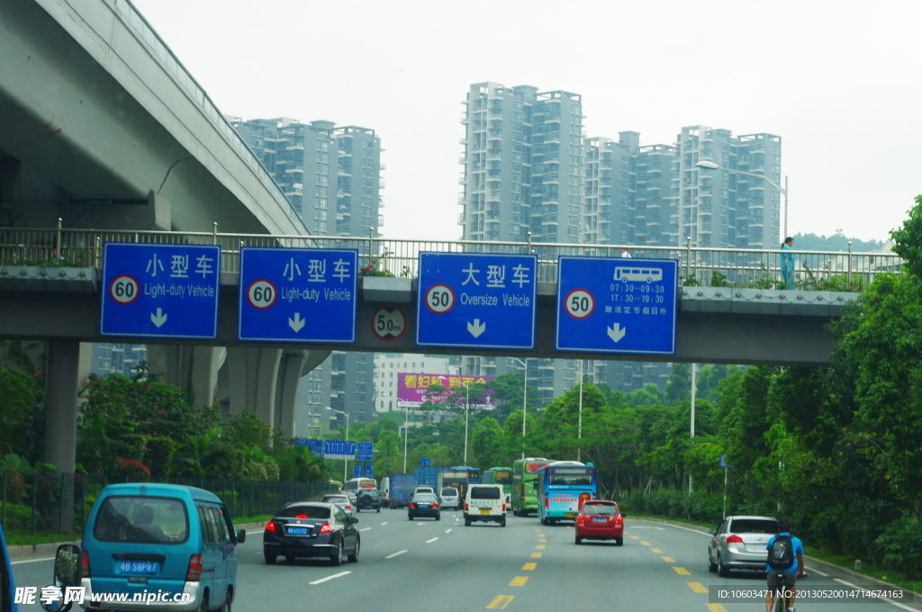
[[[183,500],[113,496],[102,502],[93,536],[102,542],[180,544],[189,536],[189,517]]]

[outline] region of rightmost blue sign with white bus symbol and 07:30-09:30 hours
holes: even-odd
[[[557,350],[672,355],[679,265],[561,255]]]

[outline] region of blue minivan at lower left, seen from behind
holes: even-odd
[[[207,490],[110,485],[96,500],[83,535],[83,607],[230,612],[237,545],[245,539]]]

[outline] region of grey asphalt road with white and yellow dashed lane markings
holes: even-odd
[[[707,571],[708,536],[667,524],[628,520],[624,546],[573,542],[573,527],[542,526],[511,514],[507,526],[465,527],[459,512],[441,521],[408,521],[406,511],[361,512],[361,558],[329,567],[304,559],[274,566],[263,560],[262,534],[251,532],[240,547],[237,612],[264,610],[389,611],[506,609],[512,611],[599,609],[660,612],[743,612],[764,604],[716,603],[708,587],[762,589],[764,578],[747,573],[718,578]],[[18,586],[50,581],[51,560],[19,562]],[[800,583],[847,589],[809,568]],[[840,577],[854,583],[850,578]],[[909,605],[906,605],[909,604]],[[39,606],[21,606],[31,612]],[[918,610],[911,602],[892,605],[799,602],[798,612],[896,612]]]

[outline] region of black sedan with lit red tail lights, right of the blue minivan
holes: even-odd
[[[343,555],[359,560],[361,541],[354,524],[335,503],[295,501],[276,512],[263,532],[263,554],[273,564],[279,555],[288,561],[298,557],[325,557],[341,565]]]

